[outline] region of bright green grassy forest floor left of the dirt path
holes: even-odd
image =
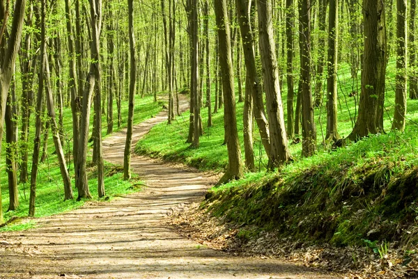
[[[152,96],[144,97],[143,99],[137,96],[135,101],[135,115],[134,115],[134,122],[139,123],[151,117],[151,115],[157,114],[161,111],[161,106],[158,103],[153,102]],[[123,101],[122,103],[122,115],[127,115],[127,102]],[[67,133],[67,137],[69,138],[69,134],[72,134],[72,118],[71,118],[71,111],[70,109],[66,108],[64,110],[64,128]],[[33,120],[33,119],[32,119]],[[93,120],[93,115],[91,117]],[[92,122],[92,121],[91,121]],[[103,122],[103,134],[107,131],[106,125],[106,118],[105,115],[102,118]],[[114,105],[114,130],[117,130],[117,108],[116,102]],[[121,128],[126,127],[126,119],[123,116],[123,122]],[[33,136],[34,128],[31,127],[31,136]],[[90,131],[92,127],[90,128]],[[70,141],[64,143],[65,152],[70,154],[72,150],[72,143]],[[29,141],[29,150],[33,150],[33,140]],[[40,216],[49,216],[52,214],[58,214],[60,212],[65,212],[70,209],[75,209],[80,207],[84,204],[84,201],[77,202],[75,200],[67,200],[63,202],[63,184],[61,180],[61,173],[59,171],[58,163],[56,156],[52,153],[54,152],[54,144],[52,142],[52,138],[49,138],[48,141],[48,159],[45,161],[44,164],[40,164],[38,170],[38,182],[37,182],[37,193],[36,193],[36,217]],[[4,152],[3,152],[4,154]],[[2,169],[3,173],[5,173],[5,166],[4,166],[4,155],[2,154],[1,157],[1,164],[0,168]],[[91,154],[90,154],[91,155]],[[91,161],[91,158],[88,159]],[[77,190],[75,189],[74,185],[74,166],[72,162],[69,164],[70,167],[70,175],[72,176],[72,185],[73,191],[75,192],[75,196],[77,196]],[[29,152],[29,170],[31,168],[31,152]],[[112,166],[111,164],[105,164],[105,180],[104,180],[104,188],[106,190],[107,196],[110,198],[118,193],[132,193],[133,191],[138,191],[132,187],[132,180],[131,182],[126,182],[122,179],[123,174],[121,168],[117,168],[116,166]],[[97,177],[95,176],[95,168],[89,168],[88,174],[88,184],[91,189],[91,193],[93,195],[93,199],[97,199]],[[8,184],[7,184],[7,176],[1,175],[0,178],[1,182],[1,193],[2,193],[2,202],[3,202],[3,212],[5,212],[5,221],[8,221],[9,218],[12,216],[27,216],[29,212],[29,187],[30,184],[20,184],[18,186],[19,189],[19,196],[20,196],[20,206],[16,212],[7,212],[8,209]],[[30,225],[33,225],[33,222],[23,225],[8,225],[5,228],[1,228],[0,230],[20,230],[23,228],[27,228]]]

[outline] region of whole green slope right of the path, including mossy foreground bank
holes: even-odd
[[[387,68],[387,131],[393,115],[394,67],[392,61]],[[357,114],[355,104],[359,96],[349,97],[352,91],[350,70],[343,65],[339,70],[341,136],[348,136]],[[286,99],[286,83],[282,99]],[[242,104],[237,104],[241,143],[242,109]],[[202,111],[206,123],[207,110]],[[256,136],[254,149],[261,172],[247,173],[243,180],[212,189],[204,207],[217,216],[228,216],[234,223],[278,229],[284,235],[304,241],[346,245],[362,243],[362,239],[401,238],[405,242],[413,239],[410,232],[414,236],[418,234],[414,223],[418,194],[411,190],[417,185],[418,101],[408,100],[404,134],[371,136],[336,151],[322,144],[325,107],[316,109],[315,113],[318,153],[314,157],[301,158],[301,145],[291,145],[295,161],[279,174],[265,173],[265,156]],[[153,128],[138,143],[137,152],[183,161],[203,170],[223,170],[227,154],[225,146],[221,145],[224,141],[222,110],[213,120],[214,127],[205,128],[198,150],[190,150],[185,143],[188,129],[188,114],[185,113],[171,126],[164,124]],[[254,134],[257,135],[257,131]]]

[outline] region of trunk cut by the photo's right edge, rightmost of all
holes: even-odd
[[[417,11],[417,0],[410,0],[410,24],[409,24],[409,65],[410,65],[410,98],[418,99],[418,79],[417,79],[417,45],[415,42],[415,14]]]

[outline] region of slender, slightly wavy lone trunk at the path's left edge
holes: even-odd
[[[129,86],[129,104],[127,115],[127,131],[126,131],[126,143],[125,143],[125,156],[123,159],[123,179],[129,180],[130,173],[130,157],[132,152],[132,127],[134,125],[134,102],[135,102],[135,78],[137,74],[135,72],[137,68],[137,61],[135,60],[135,38],[134,38],[134,3],[133,0],[127,0],[127,9],[129,17],[129,46],[130,46],[130,86]]]

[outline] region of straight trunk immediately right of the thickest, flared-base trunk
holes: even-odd
[[[405,129],[406,114],[406,0],[396,0],[396,89],[392,129]]]

